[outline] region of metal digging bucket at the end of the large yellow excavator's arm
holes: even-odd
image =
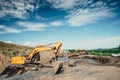
[[[56,61],[53,63],[53,69],[55,74],[59,74],[63,68],[63,63],[61,61]]]

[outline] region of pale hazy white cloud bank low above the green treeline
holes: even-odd
[[[82,40],[76,42],[64,42],[64,49],[99,49],[99,48],[114,48],[120,45],[120,36],[101,38],[98,40]],[[71,44],[69,44],[71,43]],[[72,45],[72,46],[71,46]]]

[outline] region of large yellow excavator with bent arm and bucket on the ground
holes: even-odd
[[[52,44],[55,44],[55,46],[51,46]],[[62,42],[52,44],[37,46],[29,53],[28,57],[12,57],[11,65],[6,67],[1,75],[10,77],[15,74],[22,74],[29,70],[29,68],[32,70],[38,70],[40,65],[42,67],[45,66],[45,64],[42,64],[45,61],[48,64],[52,64],[54,73],[58,74],[63,67],[63,63],[58,61],[58,53],[62,46]],[[42,53],[44,51],[46,51],[46,53]],[[50,53],[48,53],[49,51]]]

